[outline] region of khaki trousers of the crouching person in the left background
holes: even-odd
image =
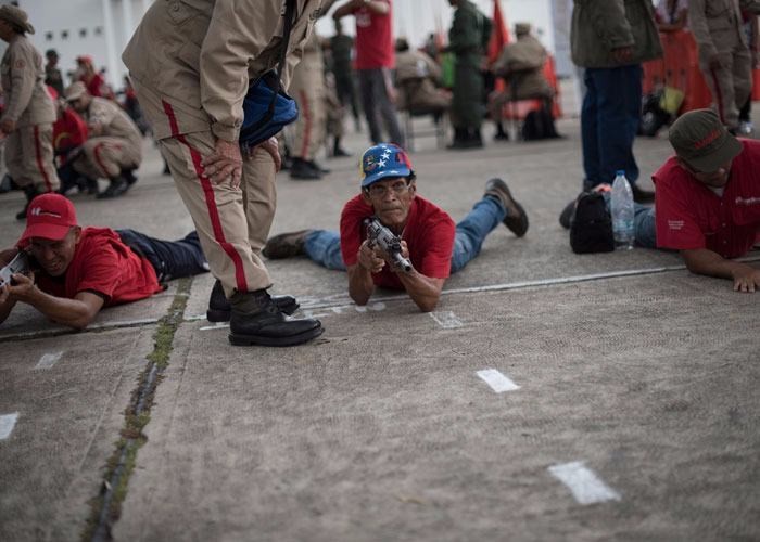
[[[142,159],[141,149],[124,138],[91,138],[81,145],[74,169],[91,179],[114,179],[123,169],[134,169]]]

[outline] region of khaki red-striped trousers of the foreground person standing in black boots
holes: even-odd
[[[239,190],[214,184],[203,173],[201,158],[214,152],[211,131],[159,142],[177,192],[195,224],[211,272],[225,288],[253,292],[271,286],[261,259],[275,217],[275,162],[256,150],[243,160]]]

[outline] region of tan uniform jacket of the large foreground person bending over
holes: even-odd
[[[296,2],[286,89],[320,4]],[[155,0],[122,55],[145,99],[177,112],[175,127],[168,117],[154,122],[155,137],[211,129],[236,141],[249,81],[277,66],[283,12],[283,0]]]

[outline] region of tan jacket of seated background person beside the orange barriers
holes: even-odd
[[[517,100],[550,98],[554,91],[543,73],[546,57],[541,41],[533,36],[521,36],[504,47],[493,72],[507,79]]]

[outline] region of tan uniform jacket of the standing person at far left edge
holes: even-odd
[[[2,120],[14,120],[17,128],[55,121],[53,101],[45,87],[42,55],[25,36],[9,43],[0,73],[5,103]]]

